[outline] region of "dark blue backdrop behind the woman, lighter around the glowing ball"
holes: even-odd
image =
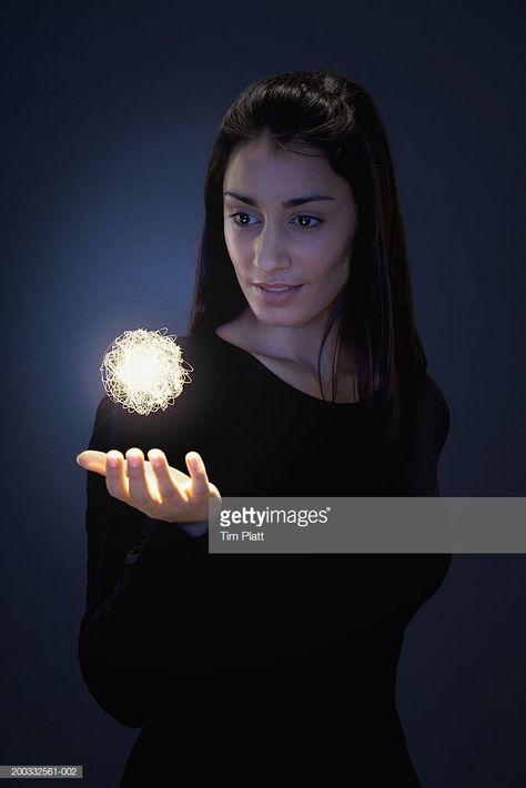
[[[335,68],[370,90],[452,412],[442,493],[525,494],[523,9],[3,0],[0,762],[82,764],[83,785],[115,787],[139,733],[97,706],[77,663],[74,457],[112,340],[186,331],[208,156],[256,77]],[[407,629],[398,706],[424,788],[526,785],[525,568],[455,556]]]

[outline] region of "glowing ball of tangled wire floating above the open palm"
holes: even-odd
[[[193,367],[168,329],[125,331],[108,348],[100,367],[108,396],[130,413],[148,416],[173,405],[191,382]]]

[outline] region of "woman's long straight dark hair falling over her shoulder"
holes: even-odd
[[[396,437],[405,381],[427,360],[415,325],[404,226],[390,144],[370,94],[336,71],[293,71],[250,84],[224,114],[210,156],[190,332],[211,333],[246,307],[223,232],[223,179],[236,144],[266,132],[277,150],[307,145],[325,154],[351,185],[358,212],[348,280],[327,320],[318,354],[336,331],[332,365],[335,400],[340,351],[353,357],[360,401],[381,404],[386,442]],[[325,398],[325,397],[324,397]]]

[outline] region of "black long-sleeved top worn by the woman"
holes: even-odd
[[[375,408],[310,396],[216,335],[179,343],[194,372],[175,404],[145,417],[104,397],[90,448],[159,447],[182,471],[195,449],[223,496],[439,495],[449,411],[427,373],[405,391],[401,436],[381,461]],[[173,730],[185,747],[269,718],[265,751],[301,729],[307,760],[323,741],[351,747],[356,770],[370,762],[380,780],[398,769],[417,785],[396,666],[404,629],[451,556],[209,554],[206,534],[145,517],[92,473],[85,522],[79,658],[108,714]]]

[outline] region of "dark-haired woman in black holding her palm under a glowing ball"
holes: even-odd
[[[210,496],[439,495],[448,406],[415,326],[386,133],[356,82],[269,77],[227,110],[179,342],[194,373],[175,405],[144,418],[104,397],[78,457],[81,669],[142,726],[121,786],[185,767],[417,786],[396,667],[451,556],[208,553]]]

